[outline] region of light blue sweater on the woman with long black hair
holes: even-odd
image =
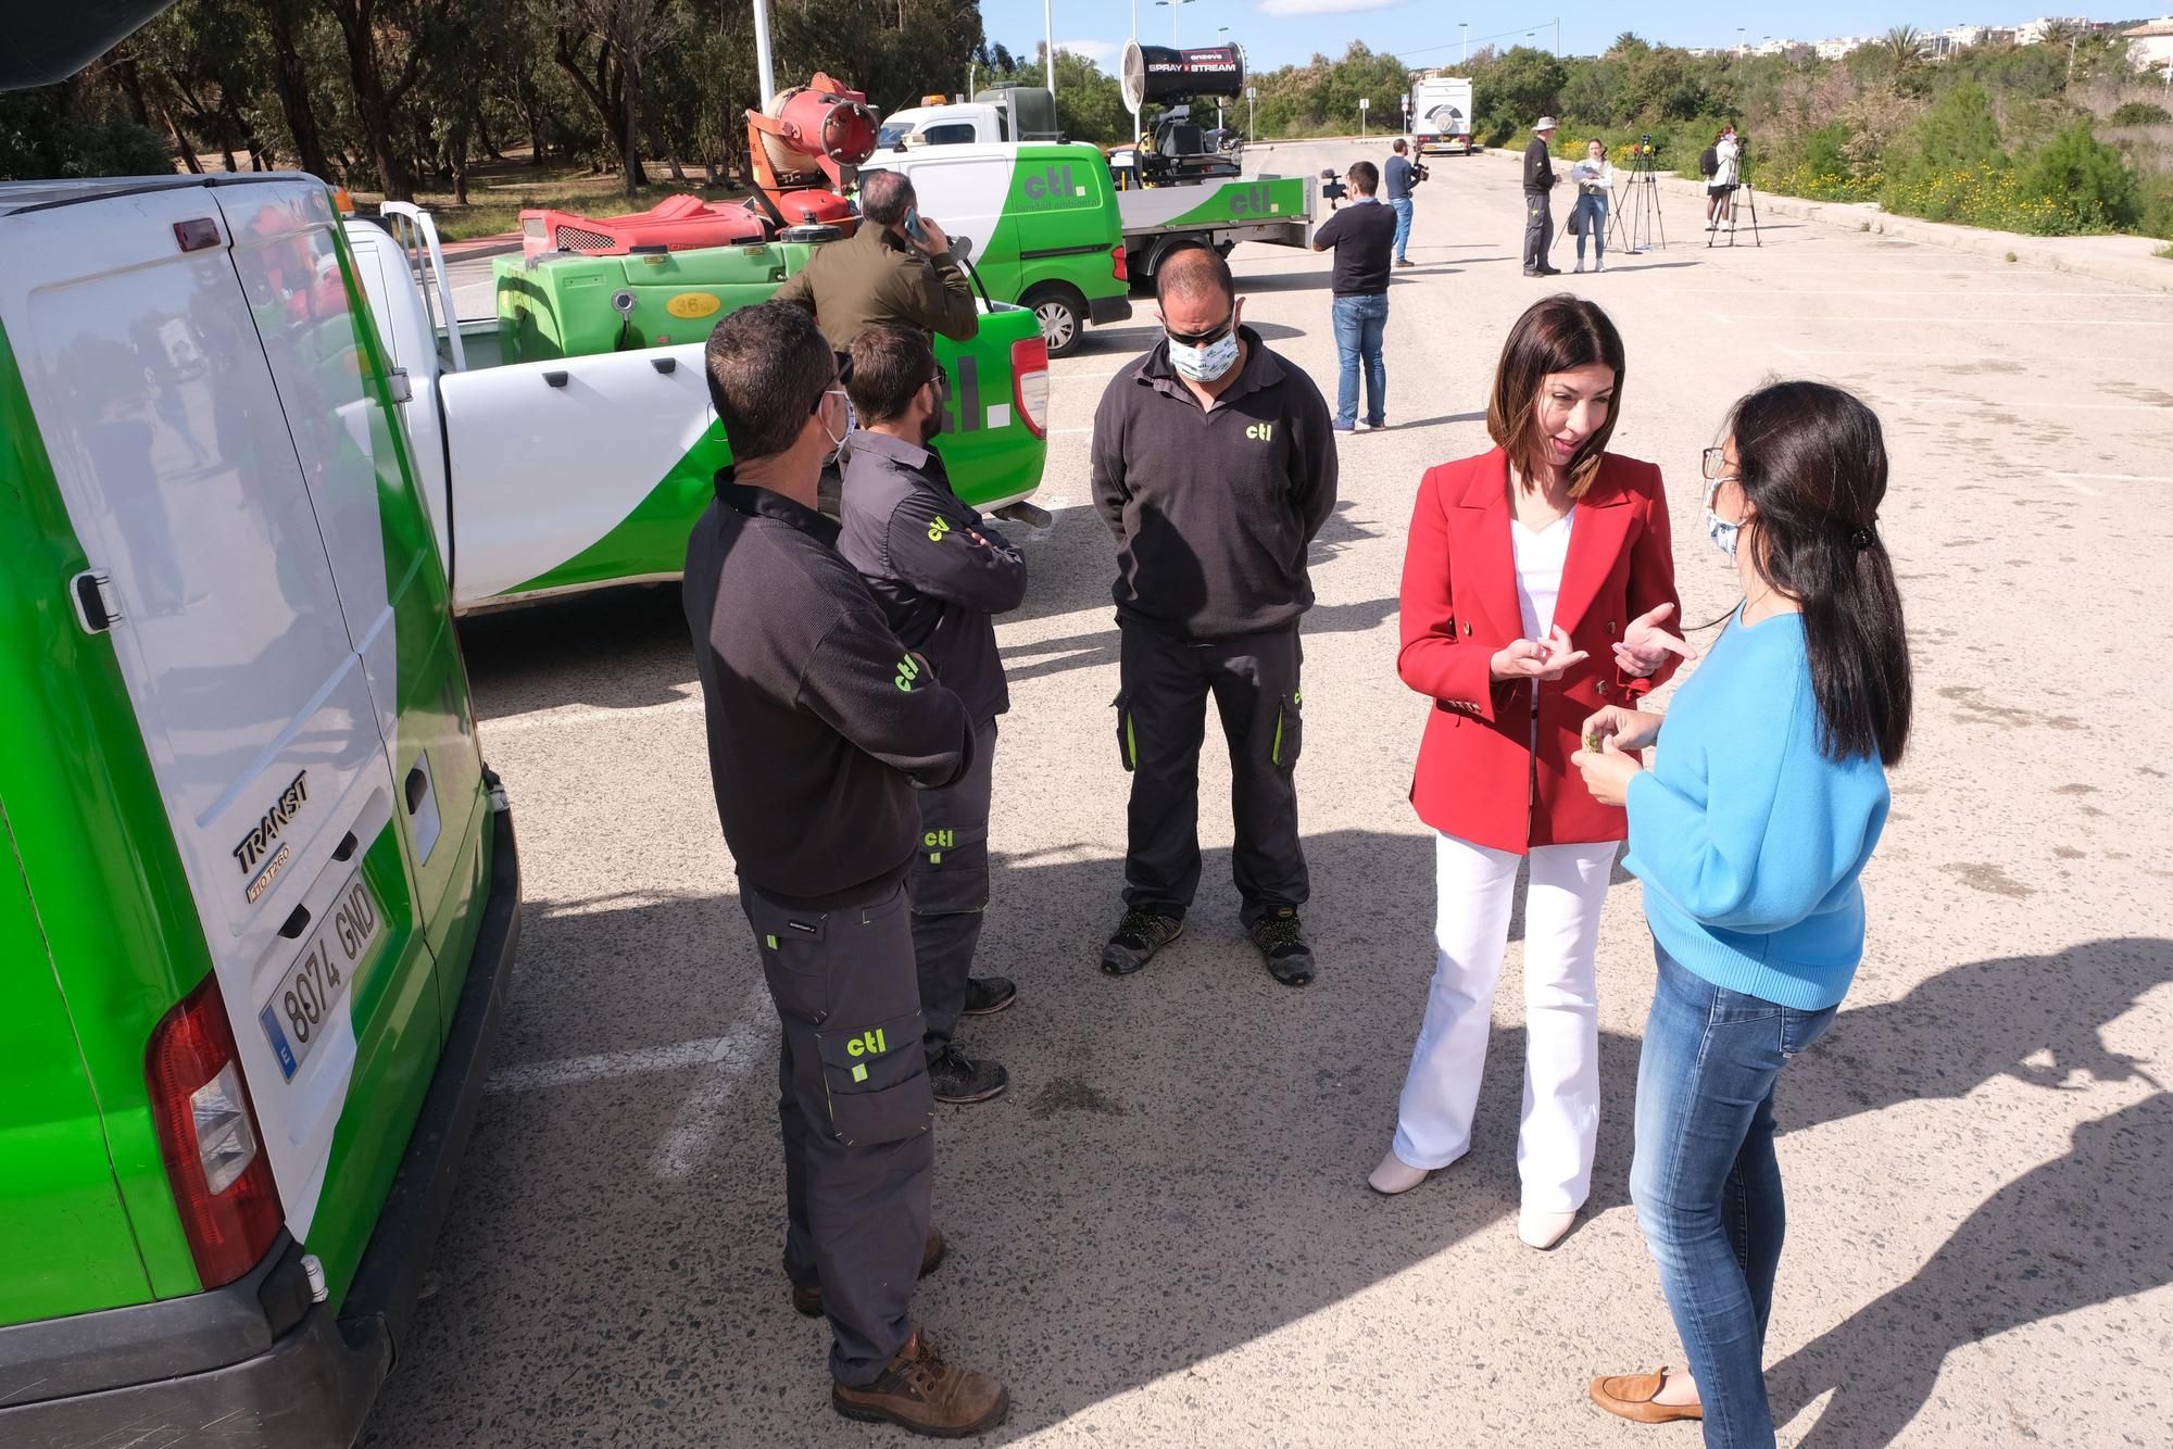
[[[1630,782],[1630,854],[1660,947],[1714,986],[1836,1006],[1864,954],[1856,884],[1886,826],[1877,756],[1819,749],[1801,615],[1743,613],[1684,680]]]

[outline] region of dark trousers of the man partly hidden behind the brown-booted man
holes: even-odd
[[[906,871],[913,962],[921,978],[924,1043],[932,1062],[958,1032],[965,978],[989,906],[989,793],[995,721],[974,730],[974,765],[941,791],[921,791],[921,849]]]

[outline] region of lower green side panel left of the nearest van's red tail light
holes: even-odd
[[[150,1297],[98,1123],[76,1028],[0,802],[0,1323],[30,1323]]]

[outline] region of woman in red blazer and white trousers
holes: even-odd
[[[1569,1232],[1599,1127],[1593,954],[1623,812],[1569,765],[1582,721],[1634,704],[1688,654],[1660,469],[1606,452],[1623,345],[1554,295],[1510,328],[1486,430],[1497,448],[1419,482],[1397,673],[1434,702],[1410,804],[1434,847],[1434,982],[1395,1143],[1373,1188],[1404,1193],[1471,1147],[1517,865],[1525,893],[1525,1073],[1517,1134],[1532,1247]]]

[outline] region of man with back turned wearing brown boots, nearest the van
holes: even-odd
[[[845,439],[837,358],[787,302],[732,313],[704,350],[732,439],[687,541],[687,628],[739,906],[784,1028],[784,1275],[830,1319],[830,1403],[915,1434],[976,1434],[1010,1397],[913,1321],[943,1260],[930,1221],[934,1097],[904,878],[915,791],[974,769],[974,721],[906,652],[815,513]]]

